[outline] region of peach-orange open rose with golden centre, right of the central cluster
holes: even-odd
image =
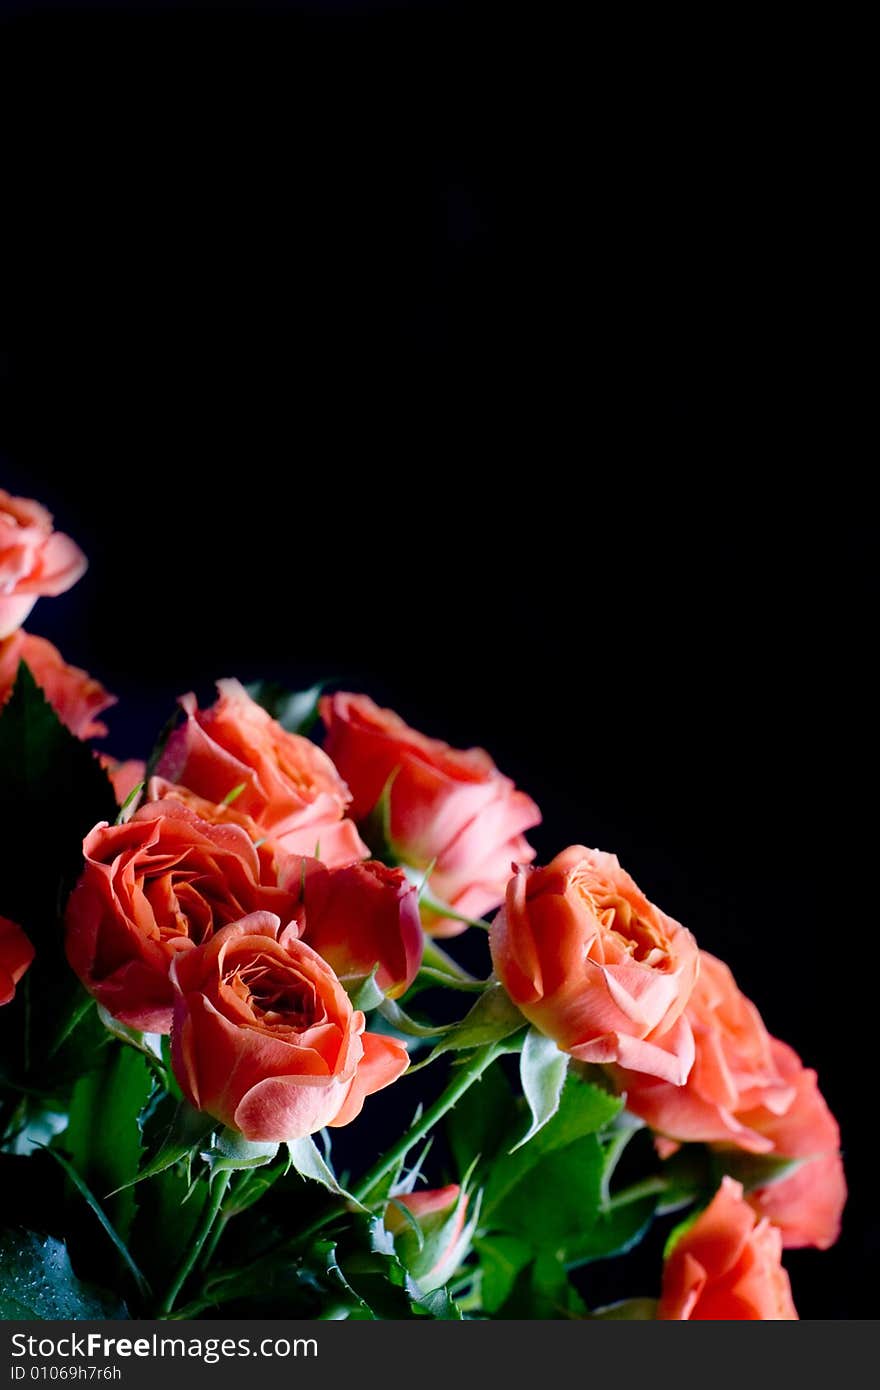
[[[544,869],[514,867],[489,947],[513,1002],[564,1052],[687,1079],[696,942],[614,855],[573,845]]]

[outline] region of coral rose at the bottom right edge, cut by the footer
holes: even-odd
[[[724,1177],[678,1238],[663,1269],[662,1320],[790,1322],[798,1314],[781,1264],[783,1241],[758,1220],[742,1187]]]

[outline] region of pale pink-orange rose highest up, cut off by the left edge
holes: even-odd
[[[0,639],[14,632],[42,594],[64,594],[85,573],[86,557],[53,531],[39,502],[0,488]]]

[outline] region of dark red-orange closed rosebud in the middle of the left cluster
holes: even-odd
[[[396,998],[416,979],[424,937],[418,892],[400,869],[375,860],[327,869],[309,860],[302,937],[341,979],[370,974]]]

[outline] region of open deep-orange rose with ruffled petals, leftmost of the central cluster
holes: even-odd
[[[178,802],[152,802],[83,841],[85,869],[65,915],[67,959],[114,1017],[168,1033],[171,960],[249,912],[289,922],[299,883],[264,881],[238,826],[211,826]]]

